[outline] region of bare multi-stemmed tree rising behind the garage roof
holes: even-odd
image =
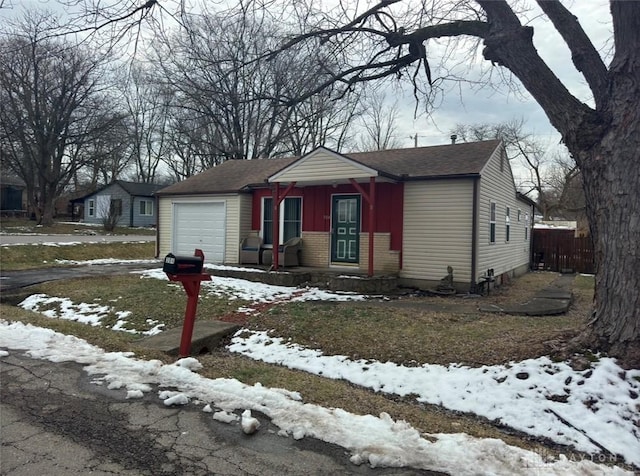
[[[328,91],[297,101],[322,76],[313,66],[320,61],[315,51],[257,61],[277,45],[280,25],[245,13],[185,15],[182,21],[187,29],[156,51],[174,107],[182,110],[173,113],[181,147],[195,146],[215,164],[302,153],[347,139],[358,106],[355,93],[343,101]]]

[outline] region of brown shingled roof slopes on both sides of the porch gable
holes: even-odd
[[[397,180],[479,175],[499,140],[447,144],[411,149],[341,154]],[[267,179],[301,157],[228,160],[160,190],[157,195],[237,193],[266,186]]]

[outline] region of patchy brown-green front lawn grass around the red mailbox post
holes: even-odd
[[[4,256],[2,260],[4,262]],[[523,302],[556,276],[530,273],[482,299],[487,303]],[[483,314],[474,310],[477,301],[426,297],[398,302],[395,307],[384,302],[281,304],[250,318],[247,327],[270,330],[275,336],[291,338],[326,354],[351,358],[388,360],[406,365],[499,364],[547,354],[549,342],[567,340],[577,334],[591,305],[593,278],[577,277],[573,291],[575,302],[571,311],[563,316],[529,318]],[[108,304],[114,311],[131,311],[126,319],[136,329],[144,329],[147,319],[165,322],[169,327],[180,325],[186,300],[179,285],[132,275],[52,282],[29,292],[67,297],[74,302]],[[203,296],[198,305],[198,319],[215,319],[246,304]],[[456,305],[459,310],[446,310],[447,305]],[[170,360],[165,355],[141,348],[136,336],[124,332],[49,319],[7,305],[2,305],[0,312],[5,319],[74,334],[106,350],[131,351],[140,358]],[[387,412],[392,418],[406,420],[424,433],[465,432],[476,437],[501,438],[509,444],[547,454],[554,454],[557,449],[473,415],[421,405],[411,398],[375,393],[346,381],[253,361],[222,348],[198,358],[204,365],[201,373],[209,378],[235,378],[249,385],[260,382],[269,387],[287,388],[300,392],[307,403],[343,408],[356,414]]]

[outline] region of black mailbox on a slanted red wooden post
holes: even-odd
[[[166,273],[169,281],[182,283],[187,293],[187,307],[184,311],[182,337],[180,338],[180,357],[187,357],[191,354],[191,338],[198,309],[200,283],[211,281],[211,275],[202,272],[203,264],[204,253],[201,249],[196,249],[193,256],[175,256],[169,253],[164,258],[162,270]]]

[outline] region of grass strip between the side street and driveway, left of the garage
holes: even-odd
[[[153,259],[156,245],[134,243],[80,243],[74,245],[12,245],[0,247],[3,271],[61,266],[57,260],[86,261],[92,259]]]

